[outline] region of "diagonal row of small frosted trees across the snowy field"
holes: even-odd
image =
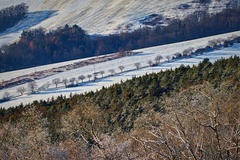
[[[213,39],[213,40],[209,40],[208,41],[208,46],[205,47],[205,48],[199,48],[197,49],[196,51],[194,51],[194,48],[193,47],[189,47],[187,49],[185,49],[182,53],[180,52],[177,52],[175,53],[172,57],[171,56],[166,56],[166,59],[167,61],[169,62],[170,59],[178,59],[178,58],[181,58],[181,57],[187,57],[187,56],[191,56],[193,54],[202,54],[203,52],[206,52],[209,50],[209,48],[212,48],[212,49],[217,49],[217,48],[220,48],[220,47],[229,47],[229,46],[232,46],[234,43],[238,43],[238,36],[237,35],[231,35],[230,37],[228,37],[227,39]],[[161,60],[163,59],[163,57],[161,55],[157,55],[155,58],[154,58],[154,61],[152,60],[148,60],[148,65],[150,67],[152,66],[155,66],[155,65],[158,65]],[[139,69],[141,67],[141,63],[134,63],[134,66],[136,67],[136,69]],[[123,65],[120,65],[118,66],[118,69],[123,72],[123,70],[125,69],[125,67]],[[111,76],[114,76],[116,74],[115,70],[114,69],[109,69],[108,70],[110,75]],[[105,74],[105,71],[100,71],[98,73],[93,73],[93,75],[89,74],[87,76],[84,76],[84,75],[80,75],[78,78],[71,78],[71,79],[67,79],[67,78],[63,78],[62,80],[60,80],[59,78],[55,78],[52,80],[52,84],[54,84],[56,86],[56,88],[58,87],[59,84],[64,84],[65,87],[68,86],[68,84],[70,83],[71,86],[74,86],[74,84],[78,84],[79,81],[83,82],[84,79],[88,78],[89,81],[91,80],[92,77],[94,77],[94,80],[96,80],[97,78],[97,75],[98,74],[101,74],[102,77],[103,75]],[[47,90],[49,89],[49,86],[51,85],[50,82],[46,82],[42,87],[39,88],[39,90]],[[35,81],[33,82],[30,82],[28,85],[27,85],[27,88],[26,87],[19,87],[17,88],[17,93],[19,93],[20,95],[23,95],[25,92],[27,92],[27,90],[30,92],[30,93],[34,93],[37,91],[37,84]],[[2,96],[2,100],[3,101],[7,101],[7,100],[10,100],[11,98],[11,95],[8,91],[4,92],[3,96]]]

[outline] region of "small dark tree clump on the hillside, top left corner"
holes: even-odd
[[[0,11],[0,32],[14,26],[23,19],[28,12],[28,6],[21,3],[16,6],[11,6]]]

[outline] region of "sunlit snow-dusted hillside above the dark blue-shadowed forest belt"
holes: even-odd
[[[196,0],[0,0],[0,3],[0,9],[26,3],[30,12],[15,27],[0,34],[2,45],[16,40],[22,30],[40,26],[51,30],[65,24],[77,24],[89,34],[118,33],[149,25],[153,21],[153,24],[166,25],[169,19],[183,18],[194,11],[219,12],[239,2],[221,0],[200,4]]]

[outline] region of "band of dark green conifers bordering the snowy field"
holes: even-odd
[[[175,70],[133,78],[109,88],[103,87],[96,93],[35,101],[34,106],[47,118],[52,142],[61,140],[59,130],[62,128],[62,116],[76,108],[81,110],[83,106],[94,106],[101,111],[101,114],[95,116],[101,117],[102,132],[130,132],[140,115],[149,111],[167,113],[168,108],[163,100],[171,94],[204,82],[209,82],[215,88],[225,81],[231,81],[234,86],[239,85],[239,67],[240,58],[236,56],[218,60],[214,64],[205,59],[198,66],[181,65]],[[31,106],[1,109],[1,124],[9,121],[15,123],[22,116],[22,112]]]

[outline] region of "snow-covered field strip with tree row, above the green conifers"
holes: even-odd
[[[107,76],[105,78],[100,78],[101,75],[98,75],[100,79],[98,79],[96,82],[87,82],[88,78],[86,78],[84,81],[85,83],[81,84],[79,87],[73,87],[73,88],[64,88],[63,85],[59,85],[57,89],[53,85],[50,86],[50,89],[48,91],[42,91],[37,94],[32,94],[32,95],[23,95],[19,96],[16,93],[16,89],[19,86],[15,86],[12,88],[0,90],[0,97],[4,94],[4,92],[8,91],[10,95],[12,96],[17,96],[13,100],[5,103],[1,103],[0,106],[4,108],[8,108],[11,106],[16,106],[21,103],[23,104],[28,104],[33,102],[34,100],[40,100],[44,99],[47,100],[48,98],[51,98],[52,96],[56,97],[58,95],[66,95],[69,96],[70,93],[75,94],[75,93],[85,93],[88,91],[95,91],[96,89],[101,89],[102,86],[108,87],[114,83],[118,83],[121,80],[125,81],[127,79],[131,79],[133,76],[141,76],[145,75],[147,73],[152,73],[152,72],[159,72],[160,70],[166,70],[166,69],[174,69],[175,67],[180,66],[181,64],[184,65],[196,65],[200,61],[202,61],[204,58],[209,58],[211,61],[215,61],[217,59],[221,58],[228,58],[230,56],[240,56],[240,44],[235,44],[234,46],[230,48],[225,48],[222,50],[217,50],[213,52],[208,52],[204,53],[203,55],[199,55],[196,57],[192,58],[186,58],[186,59],[179,59],[179,60],[174,60],[171,61],[170,63],[166,62],[166,56],[173,56],[174,53],[176,52],[182,52],[183,50],[193,47],[195,50],[200,48],[200,47],[205,47],[208,43],[209,40],[212,39],[217,39],[217,38],[227,38],[230,37],[231,35],[240,35],[239,32],[233,32],[229,34],[223,34],[223,35],[217,35],[213,37],[207,37],[207,38],[202,38],[202,39],[197,39],[197,40],[192,40],[192,41],[186,41],[186,42],[181,42],[181,43],[175,43],[175,44],[169,44],[169,45],[162,45],[162,46],[157,46],[157,47],[151,47],[151,48],[145,48],[145,49],[140,49],[140,50],[135,50],[134,52],[141,52],[140,54],[134,55],[134,56],[128,56],[124,58],[119,58],[103,63],[98,63],[94,65],[89,65],[86,67],[78,68],[78,69],[73,69],[69,70],[66,72],[62,72],[59,74],[56,74],[54,76],[50,76],[44,79],[37,80],[37,85],[41,87],[44,85],[46,82],[52,82],[52,79],[54,78],[77,78],[80,75],[92,75],[94,72],[99,72],[101,70],[105,71],[104,76]],[[147,67],[148,66],[148,60],[154,61],[154,58],[157,55],[162,55],[162,63],[156,67]],[[77,60],[76,60],[77,61]],[[66,64],[71,64],[76,61],[69,61],[69,62],[64,62],[64,65]],[[141,66],[144,67],[142,69],[136,70],[134,63],[141,63]],[[62,66],[62,63],[58,64],[53,64],[48,65],[48,66],[41,66],[41,67],[36,67],[37,70],[41,70],[44,68],[51,68],[51,67],[56,67],[56,66]],[[125,67],[123,73],[120,73],[120,70],[118,67],[122,65]],[[114,69],[116,71],[115,76],[108,76],[109,69]],[[34,72],[35,68],[30,68],[30,69],[25,69],[25,70],[19,70],[19,71],[14,71],[14,72],[6,72],[0,74],[1,79],[8,79],[9,77],[14,77],[14,74],[18,73],[18,76],[21,74],[26,74],[26,72]],[[26,87],[27,84],[21,85]]]

